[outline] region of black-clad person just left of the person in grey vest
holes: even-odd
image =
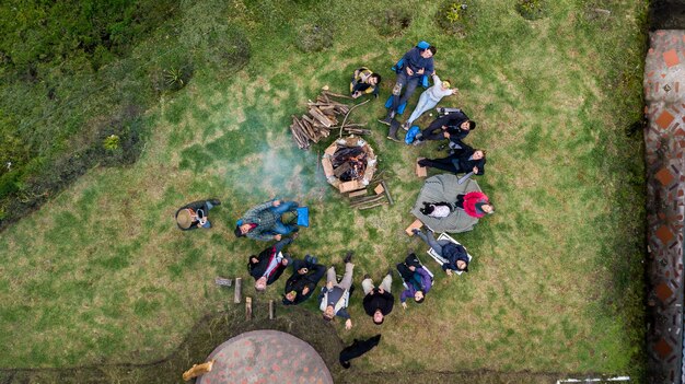
[[[326,267],[316,261],[310,255],[304,260],[292,261],[292,276],[286,281],[283,305],[300,304],[312,295],[318,281],[326,275]]]

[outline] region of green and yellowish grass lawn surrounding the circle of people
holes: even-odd
[[[421,1],[265,1],[243,19],[227,11],[248,32],[247,67],[222,77],[198,71],[146,114],[147,142],[135,165],[93,168],[1,234],[0,366],[166,356],[231,299],[213,286],[216,276],[248,278],[247,256],[266,244],[236,241],[232,226],[274,196],[311,208],[312,225],[291,252],[341,269],[344,252],[353,249],[358,284],[364,272],[380,279],[410,249],[425,255],[404,228],[421,186],[414,161],[434,156],[437,144],[390,142],[375,119],[392,88],[390,67],[428,39],[439,48],[437,72],[461,90],[445,104],[478,121],[467,141],[489,152],[478,183],[498,212],[456,235],[475,256],[469,274],[446,278],[429,264],[434,291],[420,306],[397,303],[381,328],[356,293],[355,327],[345,331],[338,322],[338,334],[348,341],[382,331],[373,359],[359,362],[371,371],[639,375],[643,163],[641,135],[626,129],[641,113],[646,4],[546,1],[547,16],[529,22],[514,2],[468,3],[474,21],[463,38],[439,30],[438,4]],[[369,24],[387,4],[414,10],[399,35],[380,36]],[[596,7],[612,16],[589,11]],[[293,44],[297,27],[316,18],[334,25],[335,43],[303,54]],[[361,65],[381,72],[383,90],[351,120],[373,129],[368,140],[390,174],[395,205],[358,212],[317,173],[328,142],[301,151],[288,126],[323,85],[344,92]],[[177,207],[205,197],[223,201],[211,212],[214,226],[178,231]],[[281,280],[266,298],[277,298]],[[396,296],[399,288],[396,279]],[[315,311],[313,301],[305,305]]]

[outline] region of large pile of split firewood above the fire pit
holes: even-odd
[[[346,116],[350,112],[350,106],[333,100],[332,97],[349,98],[351,97],[323,90],[316,96],[316,101],[306,103],[309,110],[298,118],[292,115],[292,125],[290,131],[300,149],[309,149],[310,141],[318,142],[318,140],[328,137],[330,130],[340,129],[338,118],[336,116]],[[369,135],[368,129],[362,129],[363,124],[345,123],[342,130],[353,135]]]

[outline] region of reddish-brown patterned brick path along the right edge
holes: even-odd
[[[645,65],[650,383],[683,383],[685,31],[650,34]]]

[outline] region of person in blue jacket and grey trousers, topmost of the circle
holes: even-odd
[[[392,121],[397,114],[397,109],[411,97],[423,74],[433,74],[436,72],[433,55],[436,55],[437,51],[438,48],[432,45],[428,45],[426,48],[416,46],[403,56],[403,67],[397,72],[395,86],[393,88],[393,102],[390,108],[387,108],[385,118],[379,120],[382,124],[391,126],[391,130],[393,130]],[[402,93],[403,90],[404,94]],[[390,137],[395,138],[396,131],[391,131]]]

